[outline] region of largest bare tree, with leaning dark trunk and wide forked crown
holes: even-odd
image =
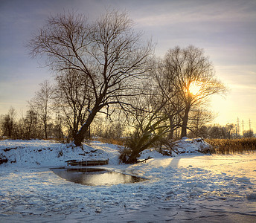
[[[147,71],[152,52],[150,42],[142,45],[141,33],[135,33],[127,13],[110,11],[89,24],[82,15],[60,14],[28,44],[32,56],[46,55],[54,71],[74,70],[87,77],[93,101],[74,143],[80,146],[97,112],[122,103],[134,93],[138,80]]]

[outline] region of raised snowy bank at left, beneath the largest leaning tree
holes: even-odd
[[[19,167],[51,167],[64,166],[68,160],[103,161],[112,155],[97,145],[84,144],[82,149],[51,140],[1,140],[0,158]]]

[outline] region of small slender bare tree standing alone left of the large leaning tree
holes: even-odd
[[[41,88],[36,91],[35,97],[29,101],[31,110],[42,120],[45,132],[45,139],[48,138],[48,120],[50,119],[49,114],[51,113],[51,99],[54,93],[54,88],[48,80],[45,80],[40,84]]]

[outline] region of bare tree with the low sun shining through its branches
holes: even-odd
[[[163,75],[179,92],[179,103],[184,107],[181,114],[182,137],[187,136],[191,108],[207,102],[213,94],[224,94],[225,86],[217,80],[214,67],[204,51],[193,46],[170,49],[164,58]]]

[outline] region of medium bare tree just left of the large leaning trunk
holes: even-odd
[[[86,78],[75,70],[65,71],[65,74],[56,77],[55,109],[63,114],[65,124],[68,126],[68,135],[73,139],[85,122],[93,101],[93,94],[86,84],[88,81]]]

